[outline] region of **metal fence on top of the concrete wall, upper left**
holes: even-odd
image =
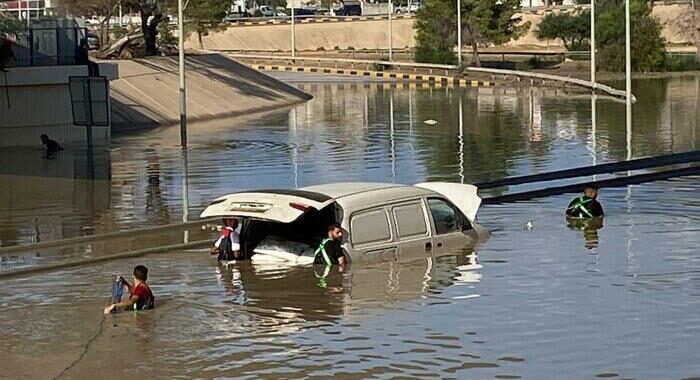
[[[76,48],[87,31],[78,27],[34,26],[13,31],[14,67],[74,65]]]

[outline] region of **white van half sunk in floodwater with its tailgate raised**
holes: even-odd
[[[489,235],[476,224],[480,205],[473,185],[348,182],[228,194],[200,216],[241,220],[253,261],[311,263],[331,223],[342,226],[350,261],[385,261],[474,248]]]

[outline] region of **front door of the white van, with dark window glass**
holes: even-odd
[[[456,253],[474,246],[476,234],[471,223],[454,204],[441,197],[428,197],[426,201],[430,210],[435,255]]]

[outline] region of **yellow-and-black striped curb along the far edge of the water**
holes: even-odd
[[[417,82],[422,85],[429,86],[454,86],[454,87],[494,87],[495,82],[467,80],[457,77],[432,74],[403,74],[386,71],[371,71],[371,70],[355,70],[355,69],[335,69],[328,67],[307,67],[307,66],[288,66],[288,65],[249,65],[255,70],[265,71],[289,71],[300,73],[320,73],[320,74],[336,74],[350,75],[368,78],[383,78],[397,81]]]

